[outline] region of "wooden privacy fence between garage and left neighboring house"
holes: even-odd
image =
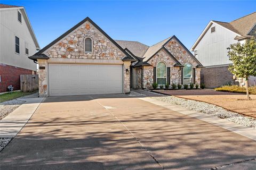
[[[20,75],[20,91],[32,92],[38,90],[37,74],[21,74]]]

